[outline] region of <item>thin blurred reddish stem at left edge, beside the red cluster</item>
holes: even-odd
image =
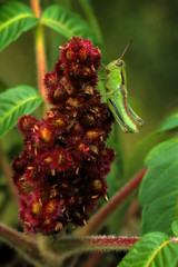
[[[16,187],[12,182],[12,170],[11,170],[11,166],[9,164],[9,160],[8,160],[8,157],[6,155],[6,152],[3,151],[3,148],[0,144],[0,165],[1,165],[1,168],[2,168],[2,171],[7,178],[7,181],[9,184],[9,187],[11,189],[11,192],[14,197],[14,199],[18,201],[18,192],[16,190]]]

